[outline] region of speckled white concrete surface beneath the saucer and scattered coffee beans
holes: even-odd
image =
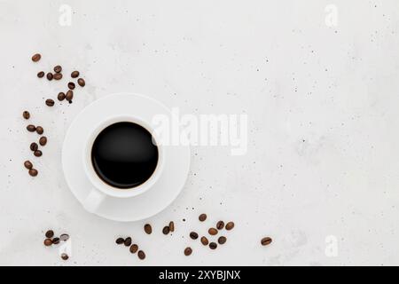
[[[70,27],[59,25],[61,4],[73,9]],[[325,24],[327,4],[337,27]],[[396,0],[0,1],[0,264],[399,264],[398,33]],[[49,108],[43,99],[67,81],[35,74],[56,64],[79,69],[87,93]],[[187,114],[246,113],[248,152],[193,147],[183,193],[150,220],[92,216],[66,186],[61,145],[84,106],[118,91]],[[49,138],[41,158],[28,149],[25,109]],[[218,219],[236,223],[222,248],[188,238]],[[164,236],[169,220],[176,233]],[[71,235],[67,262],[43,247],[48,228]],[[144,262],[114,244],[119,235],[144,248]]]

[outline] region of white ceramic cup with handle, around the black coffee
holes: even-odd
[[[91,148],[95,139],[98,137],[98,134],[105,130],[106,127],[112,125],[117,122],[133,122],[148,130],[153,136],[153,143],[158,147],[158,163],[153,171],[153,175],[149,177],[143,184],[137,185],[131,188],[118,188],[112,185],[108,185],[103,179],[98,177],[96,170],[94,170],[93,164],[91,162]],[[87,177],[90,180],[92,188],[90,193],[83,201],[83,206],[89,212],[96,212],[98,207],[101,205],[106,198],[129,198],[134,197],[139,194],[145,193],[148,191],[160,178],[160,174],[163,170],[163,150],[162,146],[156,143],[156,133],[153,131],[153,127],[149,122],[144,122],[137,117],[128,114],[121,114],[113,117],[106,118],[103,122],[100,122],[97,127],[93,130],[90,130],[89,135],[85,139],[86,146],[83,147],[82,153],[82,162],[83,168],[86,172]]]

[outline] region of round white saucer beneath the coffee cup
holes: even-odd
[[[170,112],[159,101],[139,94],[118,93],[98,99],[86,106],[66,132],[62,148],[62,166],[66,183],[82,203],[90,193],[91,185],[85,175],[82,151],[88,130],[104,117],[114,114],[134,114],[151,122],[154,114]],[[189,146],[164,146],[164,168],[160,178],[145,193],[130,198],[106,197],[95,214],[114,221],[137,221],[152,217],[168,207],[183,189],[190,169]]]

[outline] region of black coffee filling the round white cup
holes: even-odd
[[[91,148],[91,162],[108,185],[130,188],[145,183],[158,163],[158,147],[144,127],[117,122],[102,130]]]

